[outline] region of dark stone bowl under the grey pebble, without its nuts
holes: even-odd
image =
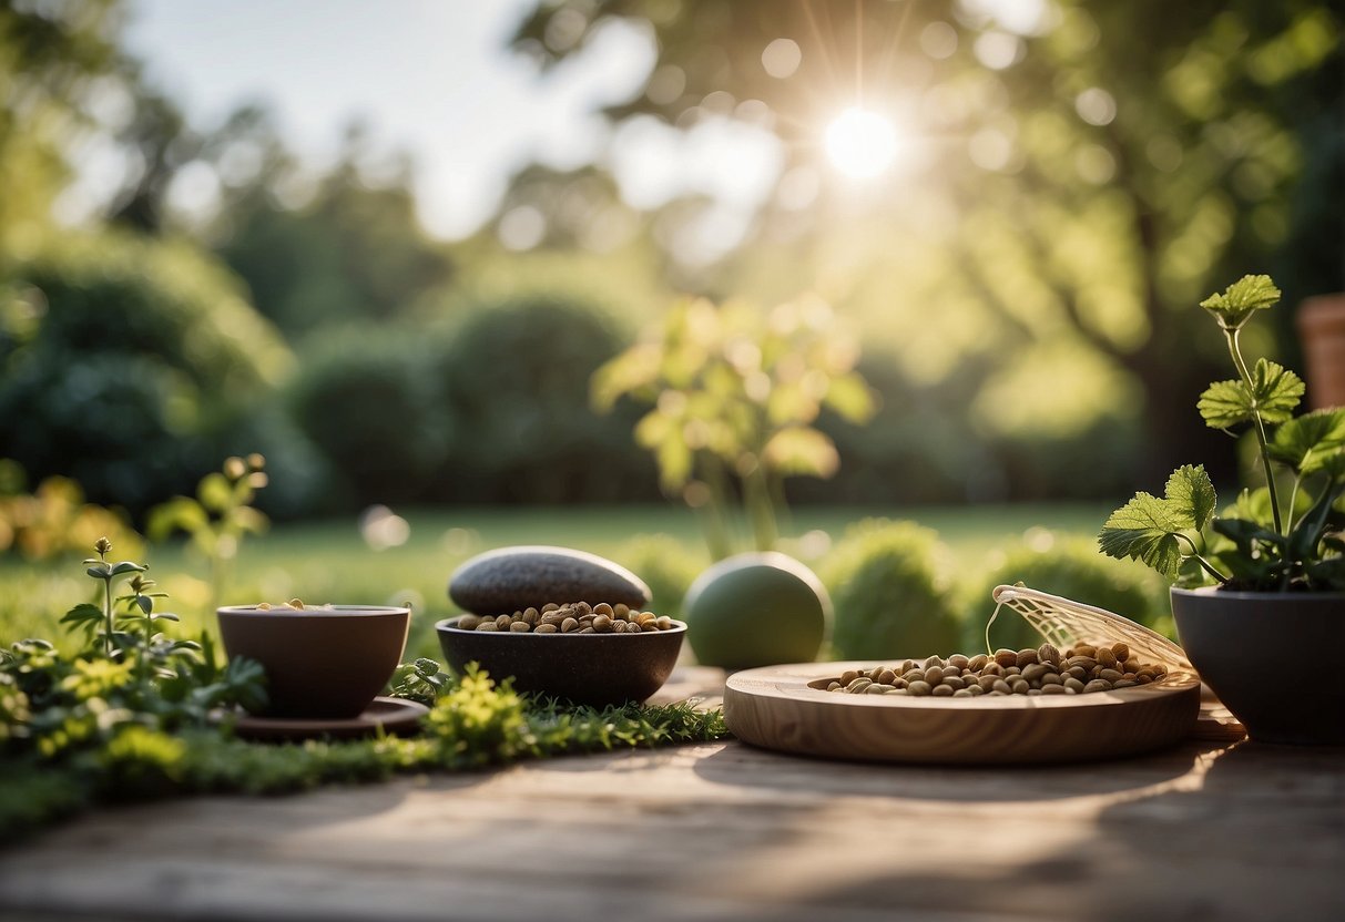
[[[457,618],[434,625],[455,672],[479,663],[491,679],[514,688],[605,707],[643,702],[672,675],[686,624],[639,634],[521,634],[461,630]]]

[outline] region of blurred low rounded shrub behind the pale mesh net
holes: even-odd
[[[1107,609],[1159,633],[1171,634],[1171,616],[1166,612],[1165,585],[1155,574],[1130,562],[1111,560],[1098,554],[1087,538],[1067,538],[1033,530],[1024,539],[997,551],[987,570],[963,586],[963,648],[981,651],[986,645],[985,628],[994,610],[991,591],[999,585],[1022,582],[1052,595]],[[1041,644],[1038,634],[1017,613],[999,613],[990,628],[991,649],[1022,649]]]

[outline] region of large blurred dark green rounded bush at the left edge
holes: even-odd
[[[190,487],[292,364],[237,280],[186,243],[66,238],[5,274],[32,317],[0,337],[5,453],[95,503],[140,512]]]

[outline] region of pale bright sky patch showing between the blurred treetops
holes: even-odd
[[[286,142],[320,168],[362,118],[375,149],[414,163],[421,219],[471,234],[510,175],[537,160],[613,169],[623,195],[656,207],[703,192],[746,214],[779,175],[761,132],[663,126],[612,137],[596,114],[629,99],[654,65],[652,36],[611,24],[545,78],[507,48],[531,0],[134,0],[128,50],[198,128],[264,101]],[[714,164],[712,168],[710,164]]]

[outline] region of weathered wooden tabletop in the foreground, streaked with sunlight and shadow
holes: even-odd
[[[1345,918],[1345,751],[898,767],[738,742],[104,810],[0,919]]]

